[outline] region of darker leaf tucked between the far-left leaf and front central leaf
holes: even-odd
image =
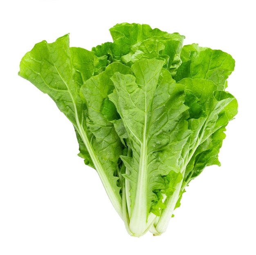
[[[113,103],[108,101],[108,95],[114,89],[110,78],[116,72],[130,74],[131,70],[121,63],[112,63],[106,67],[104,72],[88,79],[80,90],[88,108],[86,125],[94,135],[91,143],[95,152],[100,159],[114,162],[110,175],[115,172],[117,160],[123,150],[123,145],[115,131],[114,124],[110,122],[110,119],[115,119],[118,113],[113,107]]]

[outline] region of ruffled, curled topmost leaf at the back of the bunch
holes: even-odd
[[[176,73],[184,36],[135,23],[117,24],[110,29],[110,34],[114,40],[110,45],[114,59],[132,65],[143,59],[164,58],[167,69]]]

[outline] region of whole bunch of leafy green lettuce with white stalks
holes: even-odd
[[[48,94],[74,126],[79,156],[97,170],[132,236],[164,233],[186,186],[218,165],[237,113],[226,92],[234,59],[182,47],[184,36],[122,23],[88,51],[69,35],[39,42],[19,75]]]

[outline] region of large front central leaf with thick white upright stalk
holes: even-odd
[[[171,168],[178,171],[180,151],[176,148],[189,136],[183,87],[175,84],[163,65],[162,60],[141,60],[132,65],[134,76],[116,73],[112,77],[115,91],[109,95],[132,148],[132,157],[121,159],[130,172],[125,178],[131,185],[130,230],[135,235],[146,226],[156,199],[153,191],[164,188],[162,176]]]

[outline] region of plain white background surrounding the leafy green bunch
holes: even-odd
[[[8,1],[0,6],[1,255],[255,255],[256,38],[254,1]],[[212,166],[191,182],[166,233],[130,237],[97,172],[76,156],[71,123],[18,76],[36,42],[70,33],[70,45],[111,41],[138,22],[222,49],[236,60],[228,91],[239,114]]]

